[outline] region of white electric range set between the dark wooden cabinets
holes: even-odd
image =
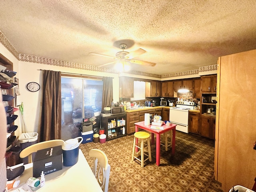
[[[188,133],[188,110],[194,109],[194,102],[177,101],[176,107],[170,108],[169,120],[176,124],[176,130]]]

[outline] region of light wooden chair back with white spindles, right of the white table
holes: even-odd
[[[108,192],[108,183],[110,176],[110,164],[106,154],[99,149],[92,149],[89,151],[89,156],[94,158],[93,173],[97,178],[102,190]],[[98,169],[97,169],[97,165]]]

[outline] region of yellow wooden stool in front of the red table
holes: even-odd
[[[136,138],[138,138],[140,140],[140,142],[138,142],[136,144]],[[148,140],[148,144],[144,143],[144,140]],[[140,144],[140,145],[139,145]],[[144,147],[145,145],[145,147]],[[134,156],[135,153],[135,148],[139,148],[140,149],[140,157],[141,159],[137,158],[136,156]],[[148,154],[146,154],[144,152],[144,149],[148,148]],[[144,159],[144,155],[148,156],[148,158]],[[136,158],[137,160],[139,160],[141,162],[141,167],[144,167],[144,162],[146,160],[149,159],[149,161],[152,161],[151,158],[151,149],[150,149],[150,134],[144,131],[138,131],[134,133],[134,142],[133,142],[133,149],[132,149],[132,161],[134,160],[134,158]]]

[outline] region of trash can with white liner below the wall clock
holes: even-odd
[[[21,150],[36,144],[38,141],[38,133],[37,132],[29,132],[29,133],[22,133],[17,142],[20,144]],[[32,160],[34,159],[35,154],[32,154]],[[24,164],[28,163],[28,157],[22,159]]]

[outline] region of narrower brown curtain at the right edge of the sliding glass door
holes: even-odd
[[[102,112],[104,107],[111,106],[113,100],[113,78],[103,77]]]

